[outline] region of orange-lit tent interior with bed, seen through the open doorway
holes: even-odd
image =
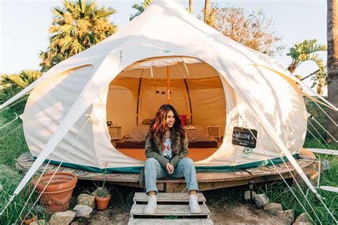
[[[106,120],[113,145],[128,157],[146,159],[145,137],[155,112],[168,103],[168,85],[169,103],[179,115],[186,115],[188,157],[195,162],[208,158],[225,135],[225,89],[212,66],[190,57],[147,58],[111,81]],[[114,138],[118,132],[120,137]]]

